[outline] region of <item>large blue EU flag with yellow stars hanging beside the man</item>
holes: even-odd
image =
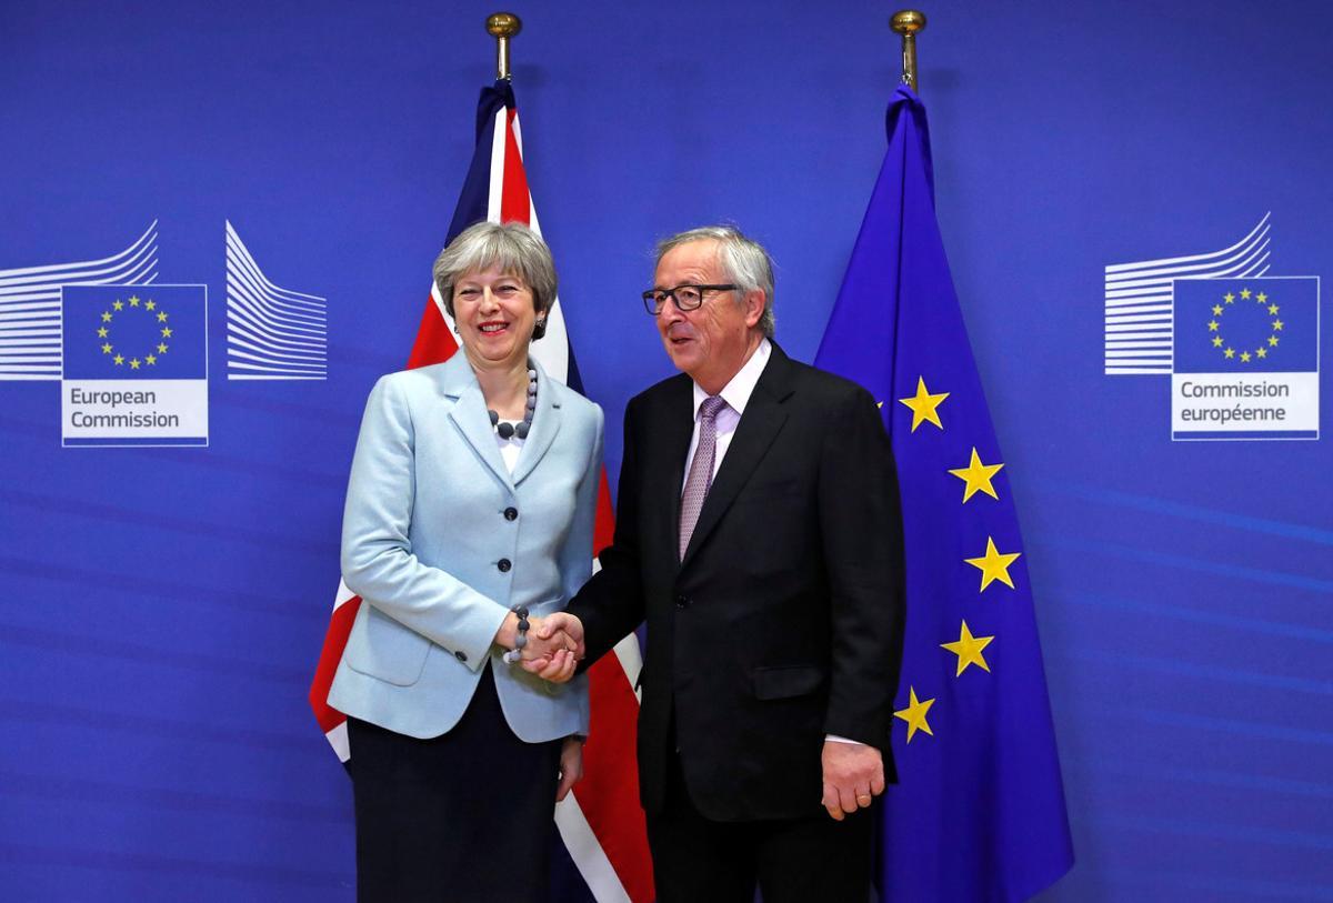
[[[1073,864],[1026,559],[936,221],[925,108],[906,87],[888,131],[816,358],[882,402],[902,501],[898,784],[878,884],[885,900],[1021,900]]]

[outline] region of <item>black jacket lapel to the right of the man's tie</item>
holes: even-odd
[[[749,401],[745,404],[745,413],[741,416],[741,422],[736,426],[734,436],[732,436],[726,457],[722,458],[722,465],[717,469],[717,477],[713,479],[713,485],[708,490],[708,497],[704,499],[704,509],[698,513],[698,523],[694,525],[694,533],[689,538],[689,547],[685,549],[681,567],[689,565],[690,558],[698,551],[700,545],[708,539],[708,534],[717,526],[722,514],[736,501],[736,495],[749,482],[750,475],[758,467],[764,455],[768,454],[768,450],[773,446],[773,440],[777,438],[778,432],[781,432],[782,425],[786,422],[786,410],[782,408],[782,402],[792,394],[790,368],[790,360],[774,342],[768,364],[764,366],[764,373],[760,376],[753,394],[750,394]],[[677,481],[677,523],[680,522],[678,486]]]

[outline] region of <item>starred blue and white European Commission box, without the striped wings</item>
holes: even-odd
[[[208,445],[208,289],[67,285],[65,446]]]

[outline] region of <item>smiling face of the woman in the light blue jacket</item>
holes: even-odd
[[[499,266],[464,273],[453,284],[453,318],[473,369],[527,365],[537,314],[520,277]]]

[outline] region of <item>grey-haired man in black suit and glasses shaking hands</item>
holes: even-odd
[[[659,900],[749,903],[757,880],[768,903],[862,903],[902,643],[876,402],[773,344],[772,264],[736,229],[661,242],[644,300],[684,374],[625,409],[615,542],[543,631],[593,661],[648,621]]]

